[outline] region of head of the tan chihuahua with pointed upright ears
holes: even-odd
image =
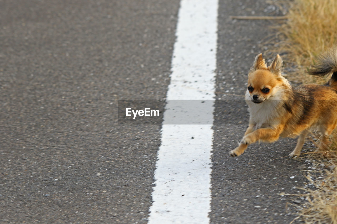
[[[280,55],[277,54],[272,64],[267,67],[262,53],[258,54],[248,73],[246,100],[255,104],[263,103],[276,96],[280,88],[290,86],[289,82],[281,75],[282,66],[283,60]]]

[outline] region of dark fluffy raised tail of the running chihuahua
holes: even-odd
[[[321,54],[317,58],[316,64],[311,65],[311,67],[312,68],[308,72],[310,75],[326,77],[332,73],[328,84],[337,90],[337,44]]]

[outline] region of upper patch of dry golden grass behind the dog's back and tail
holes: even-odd
[[[284,37],[280,49],[287,53],[285,61],[298,66],[295,74],[289,74],[288,78],[313,82],[316,80],[306,75],[310,64],[337,42],[337,1],[294,0],[289,4],[288,20],[278,27]]]

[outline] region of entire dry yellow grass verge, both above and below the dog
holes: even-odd
[[[327,80],[317,80],[306,72],[317,55],[337,43],[337,1],[293,0],[289,4],[288,20],[277,27],[276,39],[281,38],[281,42],[274,50],[284,52],[286,66],[294,65],[293,68],[296,68],[296,71],[287,74],[290,81],[324,83]],[[331,142],[330,155],[336,156],[337,131],[332,135]],[[317,153],[308,157],[315,161],[319,172],[307,174],[309,182],[302,188],[306,193],[297,195],[305,197],[306,202],[297,206],[299,216],[294,221],[337,224],[337,168],[331,170],[337,165],[337,159],[319,157]],[[321,164],[325,166],[323,169]]]

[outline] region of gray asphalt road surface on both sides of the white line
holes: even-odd
[[[147,223],[161,125],[118,124],[117,103],[165,99],[179,4],[0,0],[1,223]],[[279,194],[305,181],[287,158],[296,141],[229,157],[247,125],[246,73],[277,47],[269,21],[230,15],[282,13],[219,1],[210,223],[289,223]]]

